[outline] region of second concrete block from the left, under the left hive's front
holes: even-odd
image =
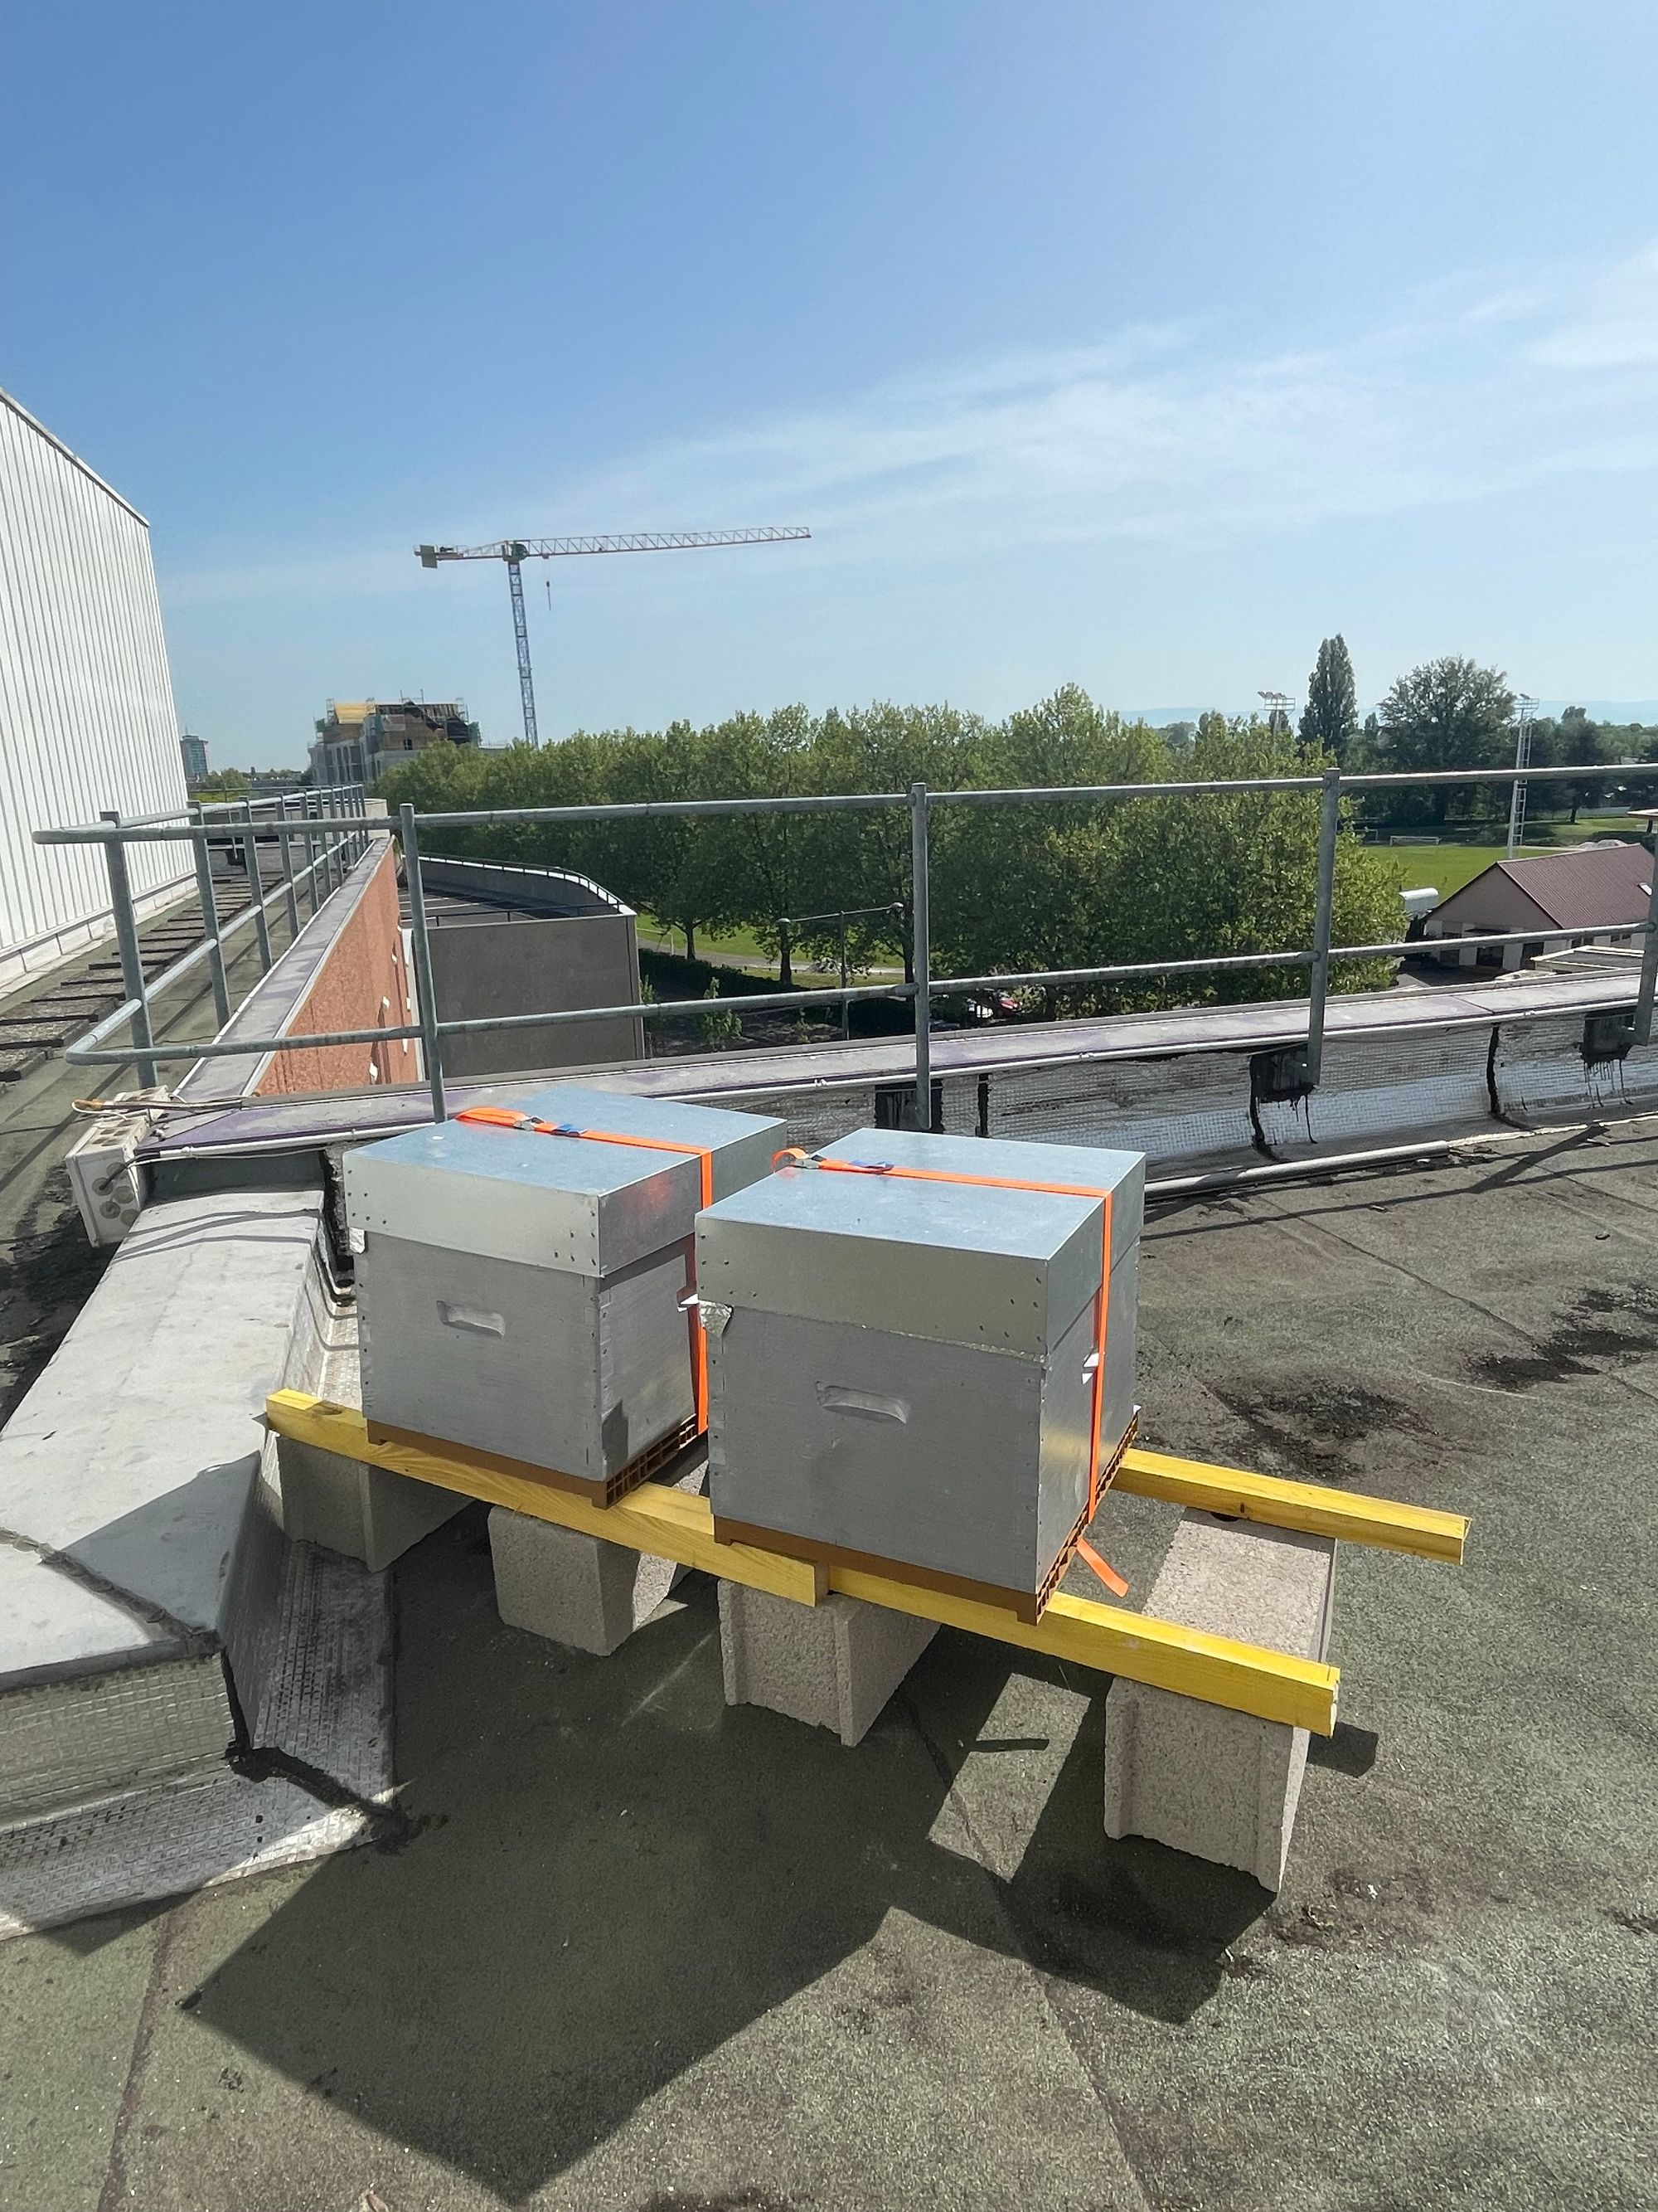
[[[699,1462],[674,1489],[701,1498],[705,1484],[707,1462]],[[508,1628],[528,1628],[601,1659],[650,1619],[685,1573],[672,1559],[577,1535],[506,1506],[491,1509],[489,1551],[495,1608]]]

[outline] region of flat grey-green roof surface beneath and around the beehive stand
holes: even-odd
[[[1163,1201],[1150,1442],[1346,1548],[1289,1876],[1101,1832],[1105,1679],[942,1630],[856,1752],[396,1568],[411,1834],[0,1949],[9,2212],[1654,2205],[1658,1130]],[[1172,1509],[1096,1531],[1145,1595]],[[1083,1586],[1081,1579],[1077,1584]]]

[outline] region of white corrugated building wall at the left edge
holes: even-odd
[[[108,929],[95,847],[31,832],[186,803],[150,526],[0,392],[0,989]],[[133,845],[139,911],[190,869]]]

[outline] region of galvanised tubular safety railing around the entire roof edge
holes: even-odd
[[[909,792],[838,792],[838,794],[814,794],[805,799],[663,799],[663,801],[632,801],[615,805],[588,805],[588,807],[480,807],[473,812],[455,814],[416,814],[411,805],[398,810],[398,838],[402,843],[405,872],[409,880],[409,920],[411,920],[411,947],[418,987],[418,1011],[420,1020],[413,1024],[396,1024],[387,1029],[334,1029],[334,1031],[312,1031],[305,1035],[287,1037],[239,1037],[234,1042],[214,1044],[155,1044],[148,1022],[148,1002],[144,989],[144,975],[137,964],[137,931],[133,929],[130,891],[126,887],[126,856],[124,847],[128,843],[148,843],[153,838],[190,838],[197,843],[197,874],[206,883],[203,874],[203,852],[206,843],[214,832],[206,825],[190,823],[188,827],[175,821],[155,823],[117,823],[104,818],[102,823],[80,823],[71,830],[40,830],[35,838],[40,843],[102,843],[106,847],[106,858],[111,867],[111,894],[119,918],[126,916],[126,936],[122,940],[122,967],[126,973],[128,1002],[119,1006],[113,1015],[97,1024],[77,1044],[64,1048],[64,1060],[71,1062],[104,1062],[104,1064],[126,1064],[135,1060],[139,1068],[153,1071],[157,1062],[179,1062],[179,1060],[208,1060],[214,1055],[245,1055],[245,1053],[292,1053],[334,1044],[380,1044],[400,1040],[420,1040],[427,1086],[431,1091],[431,1113],[433,1119],[442,1121],[447,1117],[444,1102],[444,1071],[442,1071],[442,1040],[475,1035],[480,1031],[511,1031],[511,1029],[555,1029],[566,1022],[592,1022],[619,1015],[639,1015],[641,1020],[661,1020],[665,1015],[705,1015],[707,1000],[641,1000],[630,1006],[579,1006],[557,1013],[497,1013],[482,1015],[475,1020],[440,1020],[433,971],[431,971],[431,940],[427,922],[427,902],[420,883],[420,836],[424,830],[484,830],[500,823],[595,823],[595,821],[643,821],[643,818],[716,818],[732,814],[840,814],[840,812],[875,812],[886,807],[904,807],[909,812],[911,830],[911,973],[913,982],[880,982],[880,984],[829,984],[822,989],[807,991],[760,991],[743,998],[743,1011],[765,1013],[772,1009],[798,1011],[814,1002],[833,1004],[856,1004],[858,1000],[913,1000],[915,1004],[915,1126],[928,1128],[933,1117],[933,1044],[931,1044],[931,1015],[933,1002],[940,998],[953,998],[975,991],[1006,991],[1006,989],[1066,989],[1101,982],[1130,982],[1134,978],[1147,975],[1200,975],[1200,973],[1222,973],[1227,969],[1307,969],[1309,971],[1309,1000],[1307,1000],[1307,1040],[1300,1051],[1300,1066],[1295,1068],[1295,1086],[1300,1091],[1315,1091],[1324,1068],[1324,1022],[1329,1002],[1331,967],[1337,960],[1382,960],[1382,958],[1404,958],[1410,953],[1421,953],[1424,942],[1439,947],[1505,947],[1505,945],[1550,945],[1550,942],[1572,942],[1587,936],[1601,936],[1607,927],[1623,925],[1598,925],[1598,929],[1521,929],[1508,933],[1481,933],[1477,938],[1441,938],[1441,940],[1395,940],[1386,945],[1335,945],[1335,856],[1342,830],[1342,799],[1362,796],[1375,790],[1419,790],[1424,785],[1479,785],[1479,783],[1585,783],[1585,781],[1643,781],[1658,779],[1658,761],[1631,761],[1607,768],[1605,763],[1585,763],[1576,768],[1455,768],[1455,770],[1388,770],[1384,774],[1342,774],[1337,768],[1329,768],[1322,774],[1309,776],[1238,776],[1238,779],[1214,779],[1214,781],[1192,781],[1192,783],[1094,783],[1094,785],[1046,785],[1046,787],[1024,787],[1024,790],[966,790],[966,792],[933,792],[926,783],[913,783]],[[347,792],[356,792],[360,801],[360,790],[347,785]],[[1313,942],[1304,949],[1291,951],[1251,951],[1251,953],[1207,953],[1196,960],[1123,960],[1105,967],[1074,967],[1074,969],[1032,969],[1030,973],[990,973],[990,975],[933,975],[933,951],[931,951],[931,909],[928,909],[928,825],[935,807],[988,807],[988,805],[1096,805],[1108,801],[1134,801],[1134,799],[1207,799],[1227,796],[1240,792],[1309,792],[1318,794],[1318,856],[1315,856],[1315,891],[1313,891]],[[312,794],[316,796],[316,794]],[[312,825],[312,834],[316,834]],[[329,823],[327,836],[334,841],[363,838],[360,823]],[[245,832],[241,832],[245,836]],[[287,836],[305,836],[303,825],[290,825]],[[316,869],[327,860],[327,847],[323,860],[312,860],[305,876],[316,878]],[[256,863],[254,863],[256,865]],[[285,860],[285,869],[290,863]],[[285,880],[283,889],[290,889]],[[272,905],[279,894],[272,894]],[[292,896],[292,894],[290,894]],[[261,916],[263,907],[254,909]],[[203,896],[203,925],[208,922],[210,900]],[[237,922],[243,918],[239,916]],[[1629,925],[1636,927],[1636,925]],[[157,978],[148,989],[150,993],[161,989],[168,980],[183,973],[199,958],[214,953],[217,947],[217,922],[210,925],[210,942],[197,947],[195,953],[186,953],[183,960],[175,962],[161,978]],[[133,947],[133,962],[128,969],[128,938]],[[267,947],[261,945],[267,956]],[[270,964],[270,962],[267,962]],[[223,1006],[223,973],[221,962],[214,967],[214,984],[221,995],[221,1022],[228,1020]],[[1651,1018],[1654,1018],[1654,987],[1658,984],[1658,898],[1649,894],[1647,922],[1643,931],[1643,958],[1640,978],[1636,984],[1636,1004],[1627,1015],[1627,1042],[1629,1044],[1651,1044]],[[1517,1018],[1525,1018],[1525,1009],[1514,1009]],[[111,1029],[122,1022],[133,1024],[133,1046],[122,1051],[117,1046],[104,1044]],[[146,1077],[155,1082],[155,1073]]]

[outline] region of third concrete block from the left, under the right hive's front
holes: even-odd
[[[833,1593],[816,1606],[721,1582],[727,1705],[765,1705],[862,1743],[886,1699],[937,1635],[886,1606]]]

